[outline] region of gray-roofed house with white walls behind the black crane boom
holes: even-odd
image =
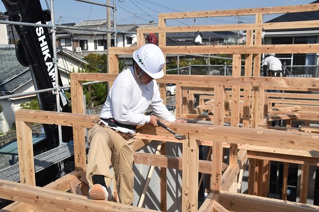
[[[60,49],[57,51],[58,69],[63,85],[69,85],[69,75],[79,67],[88,64],[81,55]],[[22,66],[16,59],[13,47],[0,48],[0,96],[15,95],[35,91],[28,67]],[[35,98],[35,94],[0,100],[3,111],[0,112],[0,132],[7,132],[15,122],[14,111],[22,103]]]

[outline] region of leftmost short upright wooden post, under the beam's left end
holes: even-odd
[[[20,182],[35,186],[31,122],[16,120],[15,125],[19,157]]]

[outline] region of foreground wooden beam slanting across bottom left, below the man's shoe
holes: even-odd
[[[50,190],[47,188],[25,185],[16,182],[0,180],[0,198],[15,200],[30,204],[35,207],[35,211],[136,211],[150,212],[154,210],[143,209],[134,206],[114,203],[111,201],[90,200],[88,197]]]

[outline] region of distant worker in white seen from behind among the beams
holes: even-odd
[[[283,73],[282,63],[274,53],[269,53],[264,59],[263,71],[264,77],[285,77]],[[268,69],[268,75],[267,75]]]

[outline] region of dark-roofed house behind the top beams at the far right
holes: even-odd
[[[319,0],[312,3],[319,3]],[[310,11],[286,13],[267,22],[291,22],[318,19],[319,11]],[[264,44],[315,44],[319,43],[319,28],[265,30],[263,31],[263,37]],[[278,57],[285,66],[286,75],[319,77],[317,67],[317,65],[319,65],[318,53],[276,54],[276,57]]]

